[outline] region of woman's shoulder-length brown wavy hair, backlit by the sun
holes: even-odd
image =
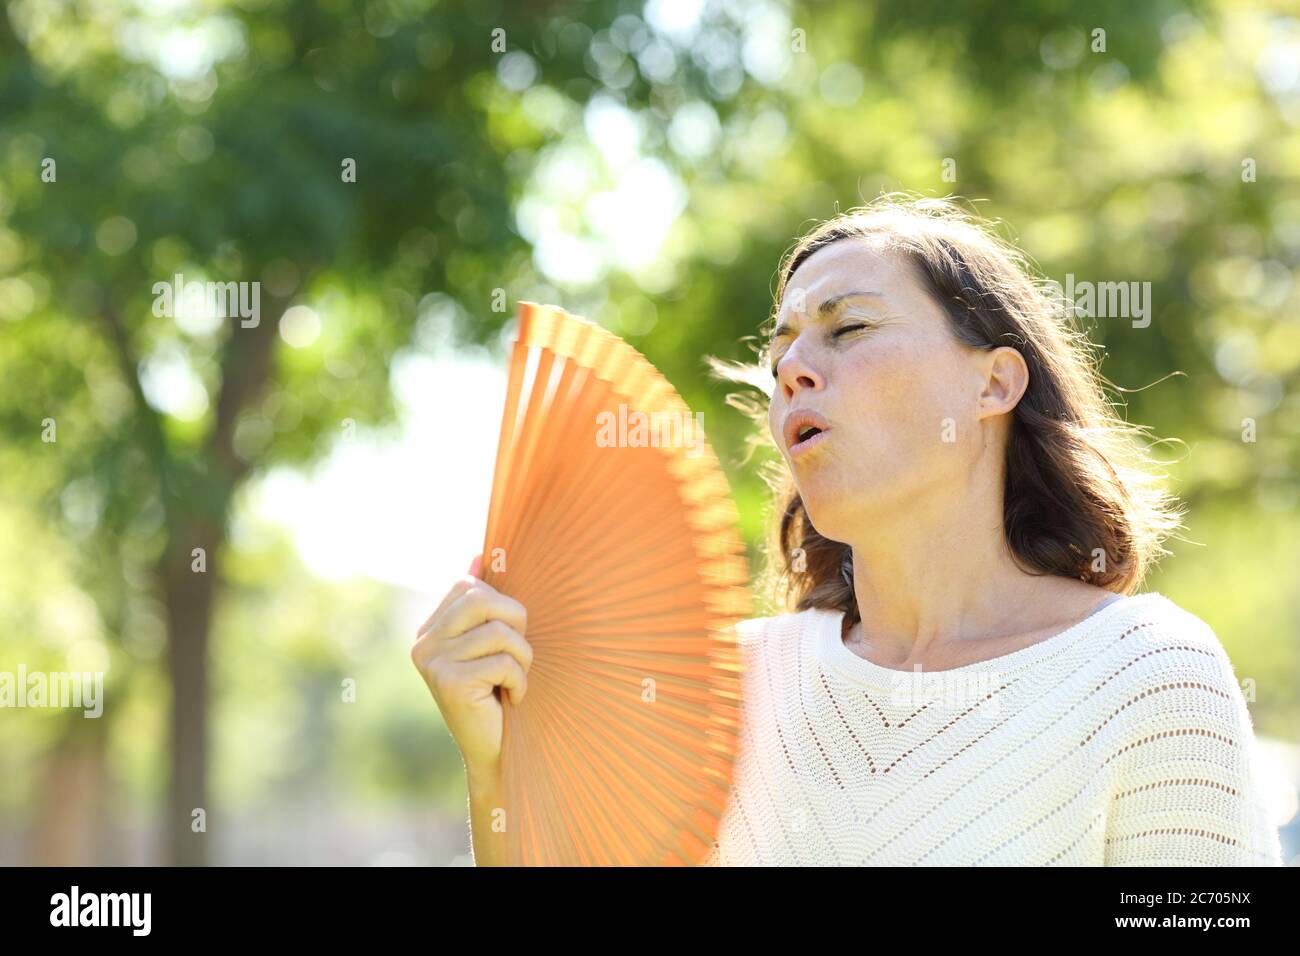
[[[1024,356],[1030,381],[1011,412],[1002,505],[1015,562],[1030,574],[1134,593],[1169,553],[1164,540],[1182,525],[1148,431],[1115,415],[1095,347],[1036,278],[1028,258],[994,224],[952,199],[883,195],[818,224],[785,254],[758,362],[706,359],[716,377],[764,394],[727,397],[758,425],[750,453],[770,446],[779,457],[767,424],[770,343],[790,276],[818,250],[854,237],[883,241],[918,268],[957,341],[976,349],[1009,345]],[[763,477],[774,507],[762,592],[785,611],[841,610],[849,626],[857,623],[852,549],[812,527],[784,458],[770,462]]]

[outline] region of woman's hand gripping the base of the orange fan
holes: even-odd
[[[506,688],[514,704],[524,700],[533,649],[524,640],[528,613],[478,580],[481,561],[471,562],[469,574],[424,622],[411,661],[460,748],[471,787],[491,792],[499,782],[503,728],[497,688]]]

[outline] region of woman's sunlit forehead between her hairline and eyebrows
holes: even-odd
[[[883,238],[836,239],[800,263],[783,290],[780,315],[812,313],[822,302],[855,289],[893,300],[920,291],[911,264]]]

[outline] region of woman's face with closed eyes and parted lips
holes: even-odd
[[[989,352],[953,337],[900,254],[868,238],[812,254],[786,285],[770,352],[768,424],[824,537],[883,529],[970,480]],[[788,416],[802,411],[826,431],[792,450]]]

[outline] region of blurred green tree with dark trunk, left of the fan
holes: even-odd
[[[58,520],[69,488],[84,502],[84,581],[110,631],[133,564],[152,572],[178,864],[204,860],[191,814],[208,808],[209,626],[238,489],[390,412],[387,360],[421,290],[488,311],[525,258],[474,107],[499,59],[490,30],[526,34],[517,14],[252,7],[169,30],[131,8],[0,18],[0,273],[17,319],[0,428]],[[260,282],[260,321],[156,315],[155,285],[177,274]],[[285,317],[313,297],[324,315]]]

